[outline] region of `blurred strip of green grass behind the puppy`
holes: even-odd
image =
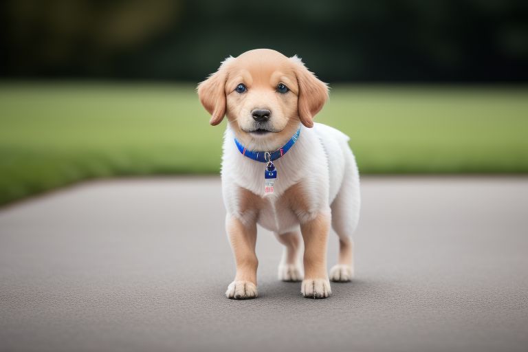
[[[333,87],[362,173],[527,173],[528,89]],[[0,203],[82,179],[218,173],[192,85],[0,84]]]

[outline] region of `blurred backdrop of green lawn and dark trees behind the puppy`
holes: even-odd
[[[195,87],[259,47],[330,84],[316,120],[351,136],[363,174],[528,172],[526,1],[0,6],[0,204],[95,177],[217,174],[225,122],[208,125]]]

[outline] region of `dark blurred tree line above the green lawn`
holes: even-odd
[[[201,80],[270,47],[338,81],[528,80],[525,0],[5,0],[8,78]]]

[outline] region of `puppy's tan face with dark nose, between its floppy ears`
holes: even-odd
[[[246,53],[234,60],[225,95],[226,115],[236,135],[261,147],[282,135],[291,137],[299,122],[292,64],[278,55],[266,59]]]

